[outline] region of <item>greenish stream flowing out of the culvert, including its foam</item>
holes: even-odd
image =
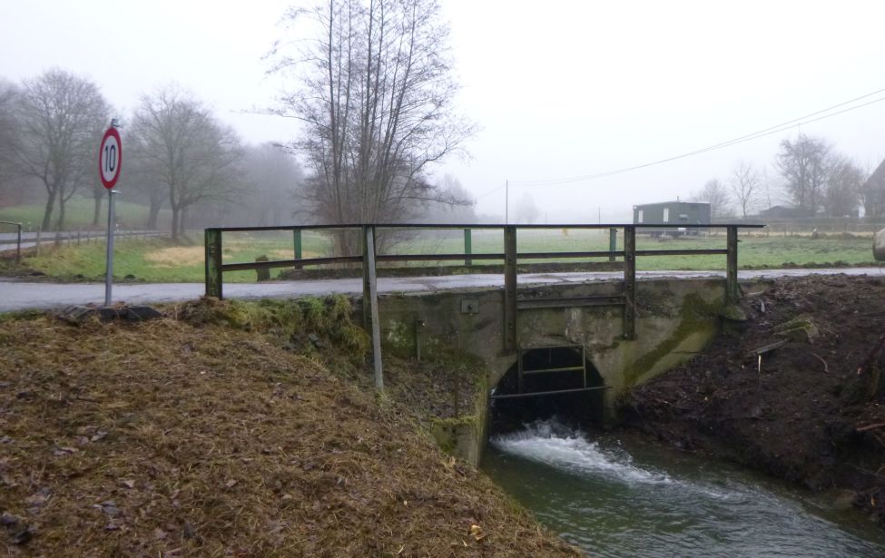
[[[589,439],[556,421],[494,436],[483,468],[591,556],[885,557],[885,533],[851,510],[833,512],[737,467]]]

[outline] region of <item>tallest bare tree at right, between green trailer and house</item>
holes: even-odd
[[[823,198],[830,151],[827,142],[800,134],[795,142],[783,140],[777,154],[776,165],[786,190],[796,206],[809,216],[817,212]]]

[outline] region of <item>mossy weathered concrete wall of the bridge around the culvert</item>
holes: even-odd
[[[615,282],[520,289],[520,298],[615,295]],[[720,328],[723,279],[644,280],[637,290],[636,336],[625,339],[622,307],[521,310],[517,328],[523,348],[584,345],[599,370],[611,408],[626,390],[693,357]],[[501,291],[388,295],[379,302],[384,341],[400,350],[416,349],[416,324],[424,354],[458,348],[483,359],[488,385],[495,387],[516,364],[503,341]]]

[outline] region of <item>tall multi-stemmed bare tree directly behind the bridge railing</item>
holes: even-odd
[[[303,66],[300,88],[277,113],[307,123],[296,145],[312,173],[315,218],[397,222],[441,200],[428,165],[456,152],[473,127],[452,110],[457,83],[438,0],[328,0],[286,19],[312,24],[300,34],[318,38],[294,55],[280,46],[271,54],[273,71]],[[351,241],[341,237],[339,251]]]

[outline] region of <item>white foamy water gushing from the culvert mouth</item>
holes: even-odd
[[[674,482],[664,473],[634,465],[625,452],[600,448],[597,443],[587,441],[580,430],[556,420],[536,421],[520,432],[494,436],[490,443],[506,454],[570,473],[605,475],[626,483],[670,485]]]

